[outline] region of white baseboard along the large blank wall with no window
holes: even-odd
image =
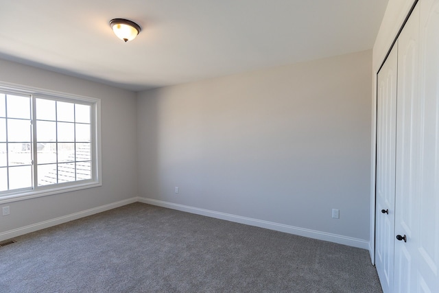
[[[285,224],[278,224],[274,222],[268,222],[264,220],[257,220],[252,218],[241,217],[239,215],[232,215],[230,213],[222,213],[218,211],[211,211],[208,209],[199,209],[196,207],[189,207],[183,204],[175,204],[172,202],[165,202],[163,200],[154,200],[152,198],[141,198],[139,197],[139,202],[145,204],[152,204],[159,207],[167,207],[169,209],[176,209],[178,211],[186,211],[188,213],[195,213],[197,215],[206,215],[211,218],[217,218],[221,220],[228,220],[230,222],[237,222],[241,224],[247,224],[250,226],[257,226],[261,228],[268,228],[270,230],[281,231],[289,234],[300,235],[304,237],[309,237],[313,239],[320,239],[329,242],[335,242],[338,244],[344,244],[348,246],[353,246],[357,248],[363,248],[366,250],[370,249],[369,242],[364,239],[358,239],[353,237],[347,237],[343,235],[337,235],[333,233],[326,233],[321,231],[310,230],[306,228],[299,228],[295,226],[289,226]]]

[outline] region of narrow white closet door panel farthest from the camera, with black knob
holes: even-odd
[[[377,215],[375,264],[384,292],[392,292],[394,276],[397,54],[398,46],[396,43],[379,71],[377,80]]]

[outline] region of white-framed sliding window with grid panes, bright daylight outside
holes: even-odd
[[[100,184],[99,99],[0,86],[0,200]]]

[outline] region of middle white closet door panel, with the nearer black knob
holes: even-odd
[[[419,5],[398,39],[398,106],[396,109],[396,198],[394,292],[417,292],[418,181],[420,115],[418,95]],[[400,235],[396,239],[396,234]],[[407,242],[405,242],[407,240]]]

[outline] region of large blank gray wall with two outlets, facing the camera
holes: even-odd
[[[371,64],[363,51],[139,93],[139,195],[368,248]]]

